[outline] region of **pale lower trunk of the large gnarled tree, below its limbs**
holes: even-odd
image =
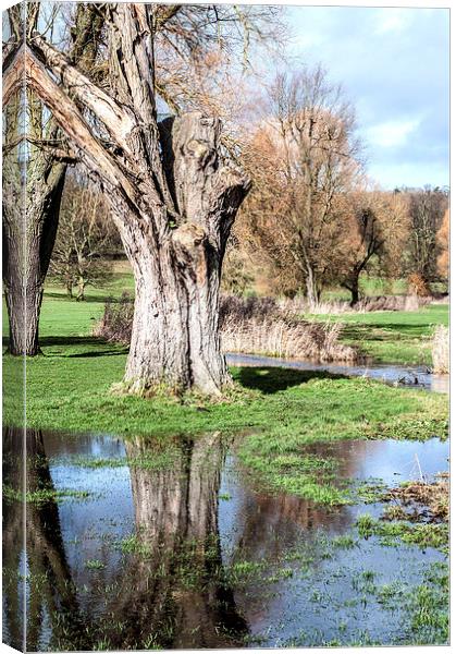
[[[176,391],[195,386],[217,392],[229,382],[218,330],[219,258],[210,256],[195,225],[176,230],[157,259],[146,239],[134,242],[136,247],[128,249],[136,290],[128,390],[144,393],[163,384]]]

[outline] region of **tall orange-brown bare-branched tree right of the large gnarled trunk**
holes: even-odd
[[[360,170],[355,118],[342,89],[317,66],[280,74],[268,88],[266,116],[245,156],[254,191],[243,209],[254,249],[283,288],[315,306],[336,274],[338,197]]]

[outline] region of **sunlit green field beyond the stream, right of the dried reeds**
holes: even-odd
[[[381,311],[306,317],[342,323],[342,340],[360,347],[363,354],[377,362],[431,365],[430,339],[436,325],[448,325],[449,310],[446,304],[431,304],[410,312]]]

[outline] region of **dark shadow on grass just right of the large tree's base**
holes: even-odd
[[[272,395],[286,390],[292,386],[307,384],[311,379],[346,379],[345,375],[337,375],[326,371],[296,371],[275,366],[239,367],[235,368],[233,376],[245,388],[260,390]]]

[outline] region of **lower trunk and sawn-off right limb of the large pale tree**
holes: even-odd
[[[219,121],[192,113],[160,123],[160,132],[168,182],[186,221],[157,244],[134,215],[118,218],[135,276],[124,389],[217,395],[231,379],[219,334],[221,268],[248,185],[217,165]]]

